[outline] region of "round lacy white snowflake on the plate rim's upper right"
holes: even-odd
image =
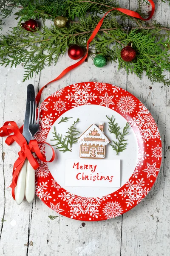
[[[124,114],[132,113],[136,108],[136,101],[132,98],[132,96],[122,96],[117,106]]]

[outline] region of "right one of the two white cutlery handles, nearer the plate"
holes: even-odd
[[[27,173],[26,173],[26,200],[31,203],[35,195],[35,170],[32,168],[31,164],[27,163]]]

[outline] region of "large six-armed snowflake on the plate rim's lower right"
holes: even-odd
[[[127,207],[135,204],[139,204],[139,202],[144,198],[149,192],[149,188],[147,188],[144,184],[144,179],[141,180],[128,180],[126,183],[126,188],[122,192],[119,192],[122,197],[126,198]],[[144,187],[145,186],[145,187]]]

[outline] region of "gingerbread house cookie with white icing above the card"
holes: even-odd
[[[105,136],[103,129],[103,122],[99,123],[99,127],[93,124],[79,137],[80,157],[105,158],[106,145],[110,141]]]

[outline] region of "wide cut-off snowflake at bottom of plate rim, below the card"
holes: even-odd
[[[110,197],[110,195],[102,198],[87,198],[77,196],[68,192],[63,192],[59,195],[63,201],[68,202],[70,206],[70,215],[71,218],[79,216],[79,214],[89,214],[92,217],[98,218],[101,202]]]

